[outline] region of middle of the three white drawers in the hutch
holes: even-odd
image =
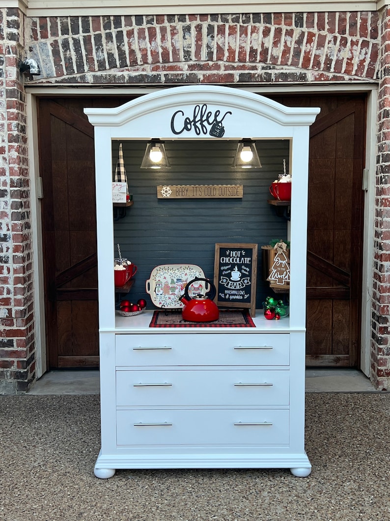
[[[288,405],[289,371],[116,371],[116,405]]]

